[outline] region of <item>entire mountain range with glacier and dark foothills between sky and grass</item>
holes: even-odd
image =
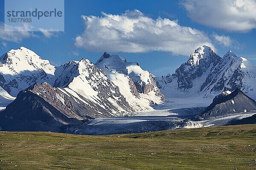
[[[256,67],[205,45],[162,77],[107,52],[95,64],[54,66],[20,47],[0,61],[1,130],[138,133],[236,125],[256,113]]]

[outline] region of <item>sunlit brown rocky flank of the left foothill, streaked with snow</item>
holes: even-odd
[[[111,117],[111,113],[100,105],[96,105],[90,100],[77,94],[69,89],[66,91],[62,88],[53,88],[47,82],[42,84],[34,84],[27,88],[24,92],[31,91],[42,97],[46,102],[55,107],[58,111],[67,117],[74,117],[82,120],[86,118]],[[100,113],[105,114],[100,114]]]

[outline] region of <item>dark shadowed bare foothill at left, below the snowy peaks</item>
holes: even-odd
[[[38,95],[38,91],[41,94]],[[3,130],[61,132],[63,125],[82,123],[81,118],[79,120],[79,117],[74,116],[75,111],[62,113],[65,105],[60,105],[55,97],[56,93],[47,84],[35,84],[20,91],[17,98],[0,114]],[[49,103],[54,103],[54,106]]]

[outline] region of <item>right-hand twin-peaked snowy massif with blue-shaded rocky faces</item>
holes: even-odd
[[[212,99],[222,91],[239,88],[256,99],[256,67],[232,51],[221,58],[205,45],[196,49],[174,74],[155,80],[167,98],[199,96]]]

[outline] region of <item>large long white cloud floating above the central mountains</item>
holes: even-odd
[[[189,55],[201,45],[213,47],[204,31],[180,26],[177,20],[161,17],[155,20],[139,10],[128,10],[124,14],[102,12],[101,17],[82,18],[85,30],[75,38],[75,45],[90,51],[169,51]]]

